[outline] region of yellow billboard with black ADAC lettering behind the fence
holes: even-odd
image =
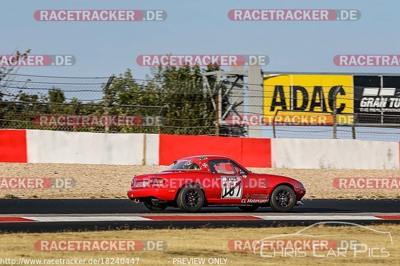
[[[341,85],[341,86],[340,86]],[[340,87],[339,87],[340,86]],[[308,112],[332,112],[336,96],[339,123],[352,123],[353,76],[351,75],[264,75],[263,114],[303,116]],[[277,110],[279,111],[276,113]]]

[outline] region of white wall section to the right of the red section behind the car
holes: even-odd
[[[399,169],[398,142],[350,139],[271,139],[272,167]]]

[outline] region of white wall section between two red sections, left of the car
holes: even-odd
[[[143,134],[26,130],[29,163],[140,165]]]

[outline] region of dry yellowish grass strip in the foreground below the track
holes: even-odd
[[[378,225],[370,226],[378,231],[388,231],[393,239],[390,245],[387,235],[376,233],[360,227],[316,227],[308,229],[310,235],[335,235],[323,239],[357,240],[366,244],[368,248],[378,248],[373,255],[382,255],[381,248],[389,252],[387,258],[371,258],[368,253],[357,254],[353,251],[346,253],[346,258],[315,258],[312,252],[307,252],[304,258],[261,258],[252,252],[231,251],[228,242],[232,239],[259,240],[280,234],[292,234],[302,229],[292,228],[230,228],[230,229],[186,229],[186,230],[131,230],[131,231],[103,231],[80,233],[42,233],[42,234],[2,234],[0,242],[0,258],[19,260],[25,259],[90,259],[90,258],[139,258],[139,265],[173,265],[173,258],[226,258],[227,265],[398,265],[400,260],[400,226]],[[164,240],[167,242],[165,251],[152,252],[39,252],[34,249],[37,240]],[[276,239],[276,238],[275,238]],[[301,239],[300,237],[287,237],[286,239]],[[302,238],[304,239],[304,237]],[[305,239],[311,239],[306,237]],[[335,249],[334,249],[335,251]],[[327,251],[317,252],[317,255],[326,255]],[[170,263],[168,263],[170,262]],[[1,263],[0,263],[1,264]],[[5,264],[2,264],[5,265]],[[34,264],[31,264],[34,265]],[[175,263],[176,265],[176,263]],[[205,264],[208,265],[208,264]]]

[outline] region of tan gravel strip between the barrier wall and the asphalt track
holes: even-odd
[[[73,189],[0,189],[0,198],[125,198],[131,178],[164,166],[0,163],[0,177],[73,178]],[[400,177],[400,170],[325,170],[249,168],[258,173],[293,177],[307,189],[305,198],[399,198],[398,189],[336,189],[337,177]]]

